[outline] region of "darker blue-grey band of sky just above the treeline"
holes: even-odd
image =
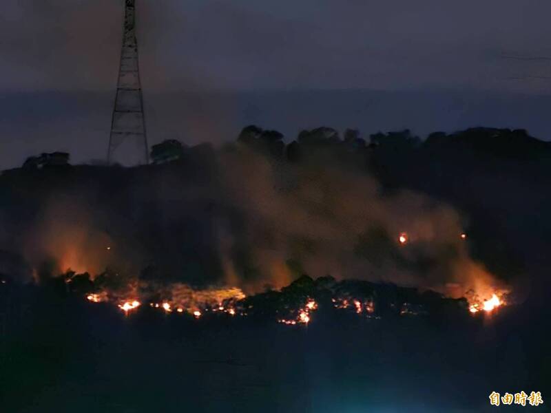
[[[433,131],[468,127],[527,129],[551,139],[551,95],[464,91],[309,90],[260,92],[144,91],[149,145],[179,139],[187,145],[233,140],[240,129],[258,124],[293,140],[302,129],[319,126],[377,131],[410,129],[422,138]],[[105,160],[113,92],[0,94],[0,169],[25,158],[67,151],[72,162]],[[45,139],[47,137],[47,139]]]

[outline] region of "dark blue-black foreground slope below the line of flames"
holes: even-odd
[[[494,390],[547,394],[545,315],[529,304],[453,322],[320,308],[304,328],[17,295],[2,412],[484,412]]]

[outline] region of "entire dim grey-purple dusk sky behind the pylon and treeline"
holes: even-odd
[[[302,128],[525,128],[549,140],[549,1],[137,0],[150,142]],[[105,158],[123,3],[0,5],[0,169]]]

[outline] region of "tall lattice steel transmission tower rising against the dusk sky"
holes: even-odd
[[[133,147],[123,145],[131,142],[134,143]],[[123,149],[124,153],[121,153]],[[116,155],[121,156],[116,157]],[[123,47],[111,120],[107,163],[114,162],[115,158],[120,158],[123,160],[121,163],[126,164],[149,162],[136,41],[135,0],[125,0]]]

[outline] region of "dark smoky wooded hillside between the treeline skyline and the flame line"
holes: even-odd
[[[460,296],[475,280],[517,282],[529,250],[512,253],[514,238],[548,228],[506,212],[546,202],[534,189],[548,183],[550,145],[525,131],[282,138],[247,127],[220,149],[181,147],[165,165],[6,171],[1,271],[112,268],[249,291],[306,273]],[[397,243],[402,231],[410,245]]]

